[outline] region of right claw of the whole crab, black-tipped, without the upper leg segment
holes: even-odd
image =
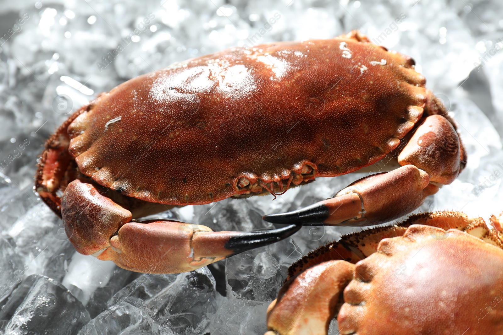
[[[389,222],[419,207],[439,190],[413,165],[362,178],[335,197],[287,213],[263,218],[275,224],[371,226]]]

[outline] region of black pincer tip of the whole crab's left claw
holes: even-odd
[[[225,249],[232,250],[233,254],[227,257],[242,253],[243,251],[267,246],[271,243],[286,239],[290,235],[301,229],[302,226],[290,225],[280,229],[272,229],[260,232],[243,232],[233,236],[225,244]]]

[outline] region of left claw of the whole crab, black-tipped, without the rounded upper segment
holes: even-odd
[[[213,232],[206,226],[178,221],[129,222],[98,258],[138,272],[187,272],[283,240],[300,228],[291,225],[260,232]]]

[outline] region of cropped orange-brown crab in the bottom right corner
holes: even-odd
[[[266,335],[327,334],[334,316],[341,334],[503,334],[501,222],[426,213],[321,247],[290,267]]]

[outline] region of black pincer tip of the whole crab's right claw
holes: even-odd
[[[291,212],[268,214],[262,218],[273,224],[322,224],[329,216],[328,207],[315,203]]]

